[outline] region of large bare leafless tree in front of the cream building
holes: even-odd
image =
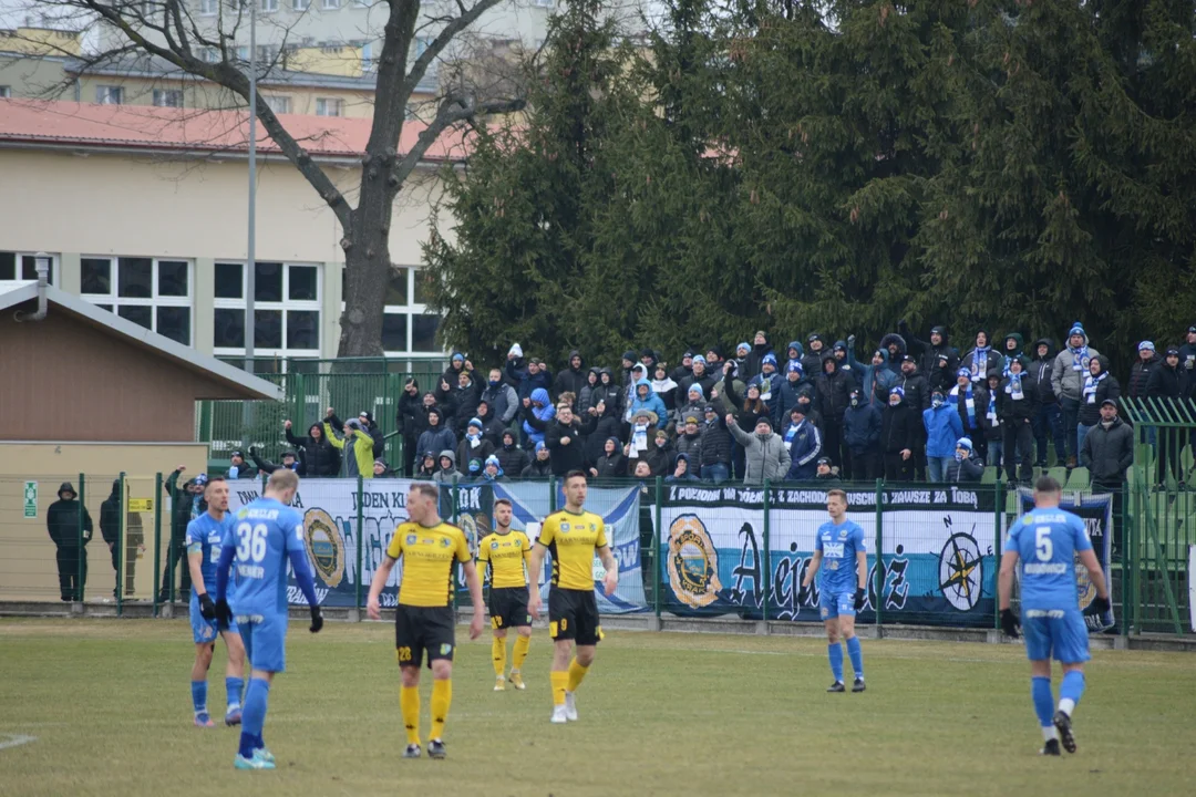
[[[413,170],[428,148],[448,128],[472,123],[492,114],[518,111],[521,92],[482,96],[464,82],[447,86],[428,109],[426,127],[415,145],[398,151],[411,93],[429,67],[450,55],[454,39],[465,39],[469,27],[502,0],[440,0],[421,19],[420,0],[385,0],[382,53],[377,57],[377,87],[370,140],[361,158],[361,182],[356,204],[312,160],[300,140],[293,136],[263,99],[250,97],[248,65],[237,57],[233,44],[238,30],[249,25],[248,2],[216,0],[213,14],[200,14],[201,0],[37,0],[43,18],[60,24],[84,26],[99,22],[115,36],[104,36],[98,51],[85,63],[98,65],[129,55],[157,56],[175,68],[212,81],[252,102],[257,117],[282,154],[332,209],[343,235],[347,287],[341,315],[340,356],[380,356],[383,302],[391,274],[390,225],[393,203]],[[409,59],[416,25],[427,30],[429,42],[414,60]],[[431,36],[435,30],[435,36]],[[212,54],[215,60],[206,60]],[[271,65],[263,65],[261,76]],[[423,123],[421,123],[421,127]]]

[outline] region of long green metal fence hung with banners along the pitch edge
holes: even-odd
[[[62,482],[74,485],[77,505],[86,514],[69,515],[73,537],[60,528],[51,539],[47,515]],[[157,612],[163,602],[185,599],[178,539],[185,526],[171,519],[188,519],[190,507],[176,513],[175,498],[190,499],[170,491],[167,482],[161,473],[0,479],[0,600],[102,600],[116,602],[118,611],[132,600],[151,602]],[[409,485],[405,479],[303,479],[295,505],[304,513],[317,591],[327,606],[364,607],[385,546],[405,520]],[[532,538],[543,519],[563,505],[556,479],[441,486],[443,516],[465,531],[475,552],[492,529],[496,498],[512,502],[513,526]],[[1076,486],[1069,485],[1063,504],[1085,517],[1103,552],[1116,631],[1188,632],[1179,618],[1188,617],[1189,597],[1179,586],[1189,580],[1191,527],[1170,535],[1158,527],[1160,517],[1190,517],[1196,505],[1186,495],[1168,502],[1166,492],[1094,493]],[[257,480],[233,482],[233,508],[261,488]],[[862,623],[995,627],[1001,542],[1029,508],[1027,490],[1001,483],[844,489],[848,516],[864,527],[868,542]],[[826,521],[825,490],[824,484],[591,482],[587,509],[604,517],[620,566],[618,589],[599,595],[600,609],[817,621],[817,582],[801,582],[814,532]],[[63,516],[60,510],[53,515]],[[537,576],[544,583],[547,569]],[[395,587],[389,584],[384,596],[393,596]],[[1084,603],[1085,590],[1080,594]],[[468,603],[462,574],[457,599]]]

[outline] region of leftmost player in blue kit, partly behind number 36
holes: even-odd
[[[195,640],[195,664],[191,666],[191,705],[195,724],[200,728],[215,725],[208,715],[208,669],[212,654],[216,649],[216,637],[224,637],[228,649],[225,664],[225,691],[228,697],[225,724],[240,724],[240,691],[245,674],[245,648],[240,643],[236,623],[216,620],[215,603],[208,589],[216,584],[216,563],[220,544],[231,525],[228,517],[228,483],[216,477],[203,489],[207,511],[187,526],[187,565],[191,574],[191,637]]]

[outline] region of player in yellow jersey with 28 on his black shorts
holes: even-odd
[[[452,652],[454,645],[453,608],[448,605],[452,590],[453,565],[465,565],[465,583],[474,601],[474,621],[469,638],[482,633],[482,583],[477,571],[469,566],[472,556],[465,534],[440,520],[438,505],[440,490],[435,484],[416,482],[407,493],[408,520],[398,525],[386,546],[386,556],[370,584],[366,612],[373,620],[382,619],[378,596],[390,577],[395,563],[403,559],[403,578],[398,588],[395,611],[395,648],[403,672],[399,707],[407,727],[405,759],[420,758],[420,664],[427,652],[432,670],[432,734],[428,737],[428,758],[445,758],[445,718],[452,703]]]

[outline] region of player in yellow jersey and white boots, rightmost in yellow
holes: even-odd
[[[544,519],[539,538],[532,547],[527,572],[532,576],[531,600],[527,611],[539,617],[537,581],[544,553],[553,554],[553,584],[548,593],[548,632],[553,637],[553,722],[578,718],[574,693],[581,686],[594,648],[602,639],[598,599],[594,596],[594,553],[602,558],[606,575],[603,586],[608,595],[618,587],[618,564],[606,541],[606,528],[600,515],[585,510],[586,474],[569,471],[565,476],[565,510]],[[576,656],[569,661],[569,648],[576,645]]]

